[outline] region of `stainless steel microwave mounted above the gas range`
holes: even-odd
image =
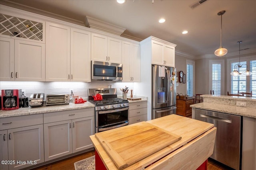
[[[122,80],[123,64],[92,61],[92,80]]]

